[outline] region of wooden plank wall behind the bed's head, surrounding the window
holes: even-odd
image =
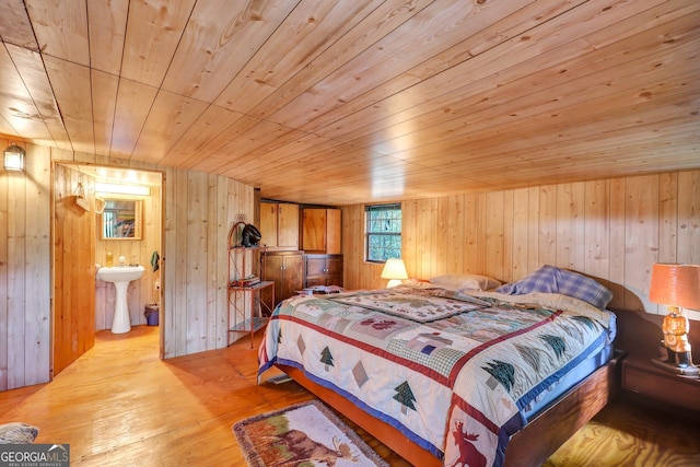
[[[649,302],[652,265],[700,262],[700,171],[411,200],[402,211],[413,278],[509,282],[550,264],[606,284],[611,308],[665,314]],[[382,267],[363,260],[364,206],[342,208],[342,223],[346,287],[384,285]]]

